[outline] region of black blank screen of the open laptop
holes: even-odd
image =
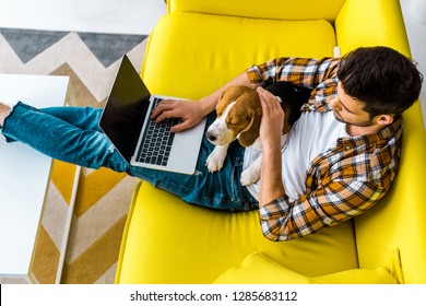
[[[125,56],[107,98],[99,127],[130,163],[145,118],[150,92]]]

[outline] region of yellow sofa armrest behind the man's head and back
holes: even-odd
[[[398,0],[346,0],[335,30],[342,55],[360,46],[388,46],[410,56]],[[403,117],[403,149],[397,179],[376,207],[354,221],[358,261],[359,268],[379,267],[399,248],[405,282],[425,283],[426,133],[419,103]]]

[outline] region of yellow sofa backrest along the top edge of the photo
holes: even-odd
[[[197,12],[255,19],[334,21],[345,0],[168,0],[169,12]]]

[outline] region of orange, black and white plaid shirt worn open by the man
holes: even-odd
[[[247,70],[261,86],[291,81],[313,89],[303,111],[330,111],[336,95],[340,59],[279,58]],[[402,118],[376,134],[340,138],[322,152],[306,176],[306,195],[291,202],[286,195],[259,210],[264,236],[289,240],[354,217],[374,205],[389,190],[401,156]]]

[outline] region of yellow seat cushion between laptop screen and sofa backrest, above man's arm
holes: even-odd
[[[173,13],[151,34],[141,76],[153,93],[201,98],[255,63],[333,56],[334,46],[334,30],[324,20]]]

